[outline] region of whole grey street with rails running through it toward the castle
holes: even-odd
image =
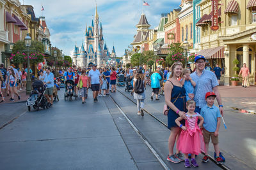
[[[151,88],[147,87],[145,110],[166,124],[167,118],[161,113],[164,97],[161,96],[160,101],[151,101],[150,92]],[[63,89],[58,95],[60,101],[48,110],[28,112],[24,103],[0,106],[1,120],[17,117],[0,130],[1,168],[163,169],[145,145],[145,139],[168,168],[185,169],[183,163],[166,161],[170,131],[147,113],[144,117],[138,116],[131,93],[125,92],[124,87],[118,87],[118,92],[111,96],[98,97],[97,103],[93,103],[91,91],[85,104],[80,98],[64,101]],[[253,131],[256,115],[230,108],[232,105],[228,101],[233,98],[223,96],[227,129],[221,124],[220,148],[226,158],[224,165],[229,169],[253,169],[256,166],[256,134]],[[253,100],[255,97],[250,98]],[[140,131],[142,138],[125,120],[114,101]],[[16,115],[8,115],[12,114],[12,106],[19,110],[13,110]],[[1,122],[1,126],[5,122]],[[210,155],[213,156],[212,147]],[[203,156],[197,157],[199,169],[220,168],[212,161],[202,164]]]

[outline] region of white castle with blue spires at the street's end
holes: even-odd
[[[74,51],[71,53],[73,64],[79,67],[88,67],[91,64],[105,66],[109,59],[116,58],[115,47],[109,53],[108,46],[104,43],[102,34],[102,24],[99,26],[99,15],[97,5],[95,9],[95,18],[92,20],[92,26],[86,25],[84,43],[79,47],[75,45]]]

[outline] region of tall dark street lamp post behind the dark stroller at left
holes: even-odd
[[[29,60],[29,47],[31,46],[31,37],[29,34],[25,37],[25,45],[26,45],[26,52],[28,56],[28,66],[27,66],[27,79],[26,79],[26,94],[30,94],[31,92],[31,79],[30,79],[30,60]]]

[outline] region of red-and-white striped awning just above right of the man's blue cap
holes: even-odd
[[[216,48],[208,48],[198,52],[198,55],[203,55],[205,59],[224,59],[225,46],[218,46]]]

